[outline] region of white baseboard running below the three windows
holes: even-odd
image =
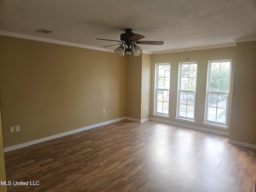
[[[183,127],[188,127],[188,128],[192,128],[192,129],[201,130],[201,131],[206,131],[206,132],[217,133],[217,134],[229,136],[229,133],[224,132],[224,131],[204,128],[204,127],[198,127],[198,126],[194,126],[194,125],[188,125],[188,124],[184,124],[184,123],[173,122],[173,121],[158,119],[158,118],[153,118],[153,117],[151,117],[150,119],[154,120],[154,121],[159,121],[159,122],[164,122],[164,123],[168,123],[168,124],[179,125],[179,126],[183,126]]]

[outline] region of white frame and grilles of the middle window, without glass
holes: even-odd
[[[180,62],[179,63],[179,70],[178,70],[178,95],[177,95],[177,114],[176,114],[176,120],[188,120],[190,122],[194,122],[194,119],[195,119],[195,104],[196,104],[196,88],[195,90],[183,90],[181,89],[181,85],[182,85],[182,65],[188,65],[188,64],[196,64],[196,82],[197,82],[197,71],[198,71],[198,62]],[[189,78],[190,78],[190,75],[189,75]],[[186,117],[185,116],[180,116],[180,93],[181,92],[187,92],[188,93],[194,93],[194,114],[193,114],[193,118],[190,118],[188,117],[187,115],[187,107],[189,106],[189,104],[187,103],[186,104]],[[187,99],[187,102],[188,102],[188,98]]]

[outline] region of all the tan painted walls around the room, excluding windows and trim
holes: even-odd
[[[198,61],[196,123],[192,125],[230,132],[231,140],[256,142],[253,118],[256,94],[255,89],[248,86],[255,84],[255,42],[238,43],[236,47],[120,57],[115,53],[7,36],[0,36],[0,41],[4,147],[124,116],[153,117],[155,63],[171,63],[169,120],[177,122],[174,118],[178,63],[187,61]],[[202,125],[208,60],[220,59],[233,60],[230,98],[234,99],[228,106],[228,130]],[[248,94],[242,95],[241,90]],[[106,114],[102,113],[103,109]],[[248,126],[241,129],[245,124]],[[15,125],[20,125],[20,132],[10,133],[10,126]]]

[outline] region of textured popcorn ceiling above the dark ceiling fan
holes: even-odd
[[[256,37],[256,0],[0,0],[1,31],[103,47],[126,28],[164,41],[148,52],[232,44]]]

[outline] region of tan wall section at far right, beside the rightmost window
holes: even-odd
[[[230,140],[256,145],[256,41],[236,44]]]

